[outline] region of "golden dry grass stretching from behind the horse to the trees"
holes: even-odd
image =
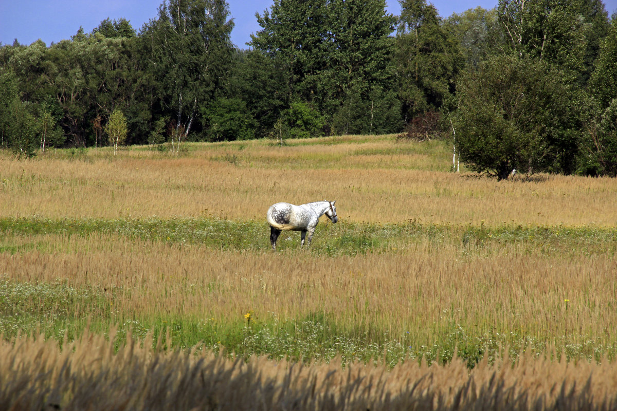
[[[542,176],[497,183],[444,173],[448,148],[423,144],[379,138],[282,148],[265,142],[195,145],[180,158],[140,150],[118,158],[93,150],[72,161],[0,157],[0,216],[261,220],[276,201],[327,198],[338,201],[343,224],[617,222],[614,179]]]

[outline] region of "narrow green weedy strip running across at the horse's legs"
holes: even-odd
[[[5,235],[119,235],[141,240],[199,244],[221,250],[268,250],[270,229],[264,221],[206,219],[42,219],[1,218]],[[530,252],[586,253],[614,255],[617,251],[615,227],[516,226],[487,227],[452,224],[424,224],[407,221],[399,224],[323,222],[315,230],[310,252],[326,256],[386,253],[404,249],[411,243],[433,245],[454,243],[462,251],[520,245]],[[297,250],[299,232],[283,232],[277,250]],[[20,253],[34,243],[16,245],[10,236],[0,240],[0,252]]]

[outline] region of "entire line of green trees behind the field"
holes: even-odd
[[[0,146],[421,130],[498,179],[617,175],[617,18],[602,1],[499,0],[447,18],[400,5],[273,0],[246,49],[223,0],[165,0],[139,32],[108,18],[49,47],[15,41],[0,47]]]

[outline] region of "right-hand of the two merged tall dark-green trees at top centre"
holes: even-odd
[[[325,112],[334,115],[337,132],[368,134],[400,129],[400,105],[394,93],[390,37],[395,18],[383,0],[333,0],[329,6],[334,45],[323,76]]]

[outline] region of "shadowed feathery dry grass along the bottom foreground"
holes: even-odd
[[[110,333],[114,338],[114,333]],[[160,341],[160,340],[159,340]],[[563,357],[562,357],[563,358]],[[102,335],[78,341],[18,337],[0,343],[4,410],[606,410],[617,406],[617,368],[524,355],[486,358],[468,372],[408,361],[303,367],[212,352],[164,352],[129,338],[116,352]]]

